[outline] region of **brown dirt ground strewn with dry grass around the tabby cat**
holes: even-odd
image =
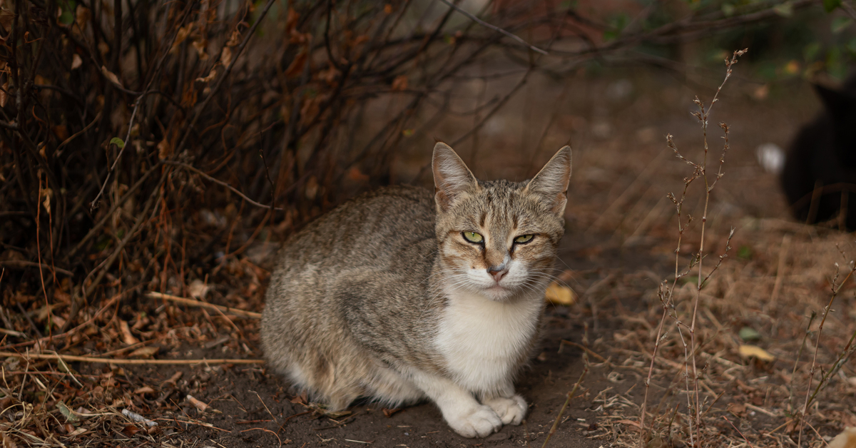
[[[843,427],[856,426],[856,361],[845,361],[812,399],[809,424],[801,436],[794,430],[792,411],[805,401],[812,355],[817,353],[820,367],[813,390],[849,347],[847,340],[856,328],[852,281],[835,299],[819,343],[816,330],[829,302],[835,263],[843,278],[856,248],[852,236],[834,224],[792,222],[776,176],[756,159],[758,145],[787,147],[800,123],[817,111],[811,89],[799,80],[764,87],[741,76],[740,68],[710,117],[711,123],[731,126],[731,147],[725,176],[712,191],[708,208],[703,275],[725,251],[730,230],[735,232],[728,258],[700,295],[698,368],[705,412],[698,433],[708,446],[790,446],[798,440],[803,446],[822,446]],[[688,158],[701,157],[700,127],[689,114],[693,93],[710,101],[721,72],[724,69],[686,82],[644,70],[581,74],[564,81],[532,79],[524,93],[486,123],[478,136],[478,152],[473,154],[472,139],[456,146],[468,164],[475,161],[476,176],[514,180],[531,176],[566,141],[574,146],[568,229],[558,272],[578,300],[571,306],[548,307],[543,353],[517,382],[530,403],[520,427],[503,427],[487,439],[464,439],[449,429],[431,403],[397,411],[361,403],[348,415],[322,415],[311,403],[289,395],[288,384],[262,365],[110,369],[74,363],[80,373],[99,375],[95,380],[116,375],[113,387],[122,392],[113,402],[104,399],[111,403],[109,409],[127,408],[158,421],[158,427],[148,431],[128,429],[134,425],[127,421],[118,427],[116,419],[112,426],[101,427],[93,421],[88,431],[122,446],[541,446],[587,362],[586,377],[549,446],[637,446],[645,379],[663,315],[657,289],[675,274],[678,224],[666,194],[680,196],[682,179],[692,173],[665,145],[665,135],[674,134]],[[478,90],[466,83],[461,89]],[[466,105],[466,96],[461,101]],[[377,105],[380,111],[384,107]],[[433,137],[453,140],[467,124],[451,117],[434,128],[416,129],[412,150],[399,156],[395,181],[430,182],[413,178],[430,155]],[[711,126],[710,165],[718,165],[721,136],[719,128]],[[681,240],[681,271],[700,240],[704,198],[698,183],[694,188],[685,201],[685,213],[696,219]],[[215,285],[211,302],[260,311],[275,246],[259,243],[247,260],[226,266],[235,272],[235,283]],[[645,423],[653,428],[650,446],[689,445],[681,341],[692,317],[697,275],[691,272],[690,281],[675,287],[675,317],[665,320],[666,337],[651,369]],[[247,289],[246,284],[255,286]],[[179,332],[158,345],[159,359],[261,357],[257,320],[231,318],[230,323],[214,313],[146,296],[135,301],[129,306],[192,314],[193,320],[217,329],[212,334],[188,326],[186,334]],[[800,350],[811,312],[818,318]],[[749,344],[772,359],[740,355],[741,347]],[[587,360],[581,347],[590,350]],[[175,378],[176,372],[181,376]],[[188,394],[208,408],[200,410]],[[64,440],[85,444],[80,437],[86,436]]]

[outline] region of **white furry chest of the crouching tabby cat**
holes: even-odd
[[[510,383],[529,349],[542,303],[526,297],[493,302],[472,293],[449,295],[437,334],[449,373],[470,391],[492,391]]]

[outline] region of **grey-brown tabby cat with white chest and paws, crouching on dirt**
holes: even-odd
[[[436,403],[464,437],[519,425],[564,234],[571,149],[528,182],[477,180],[437,143],[435,193],[387,187],[288,238],[267,290],[271,367],[329,410]]]

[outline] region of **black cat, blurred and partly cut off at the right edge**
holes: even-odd
[[[794,138],[782,189],[801,222],[838,217],[841,226],[856,230],[856,75],[838,90],[814,87],[823,111]]]

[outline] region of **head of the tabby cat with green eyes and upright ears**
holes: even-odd
[[[571,148],[526,182],[482,182],[444,143],[434,146],[443,288],[502,302],[550,283],[564,233]]]

